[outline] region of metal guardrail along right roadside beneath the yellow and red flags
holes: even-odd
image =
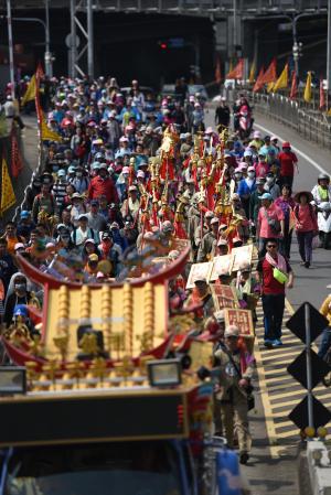
[[[325,114],[310,109],[307,104],[293,101],[284,95],[249,93],[249,99],[257,114],[277,120],[305,139],[331,149],[331,121]]]

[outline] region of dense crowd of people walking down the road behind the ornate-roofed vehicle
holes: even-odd
[[[61,140],[44,142],[43,170],[33,175],[19,220],[0,237],[0,315],[9,327],[18,316],[28,321],[31,298],[42,304],[42,288],[19,271],[17,255],[58,279],[111,283],[162,269],[190,246],[186,270],[169,283],[169,311],[194,308],[199,331],[215,343],[220,417],[229,446],[235,422],[246,463],[254,361],[238,327],[225,327],[209,281],[196,277],[186,289],[190,267],[256,243],[256,273],[244,263],[216,283],[231,284],[239,306],[253,312],[260,297],[265,345],[280,346],[285,290],[293,284],[292,234],[309,269],[330,177],[321,174],[312,192],[293,195],[298,159],[290,142],[257,130],[239,139],[224,99],[217,129],[206,126],[201,95],[180,86],[177,96],[153,100],[137,80],[127,94],[115,78],[53,80],[47,125]],[[242,105],[249,106],[245,95]]]

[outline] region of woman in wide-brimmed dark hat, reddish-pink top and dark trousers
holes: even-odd
[[[296,217],[296,234],[299,244],[299,254],[301,265],[309,268],[311,265],[312,239],[318,233],[317,215],[313,206],[310,204],[312,194],[308,191],[301,191],[295,195],[297,205],[293,208]]]

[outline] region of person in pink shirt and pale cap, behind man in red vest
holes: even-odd
[[[269,238],[282,239],[285,233],[284,212],[273,203],[270,193],[264,193],[259,200],[261,206],[257,215],[258,254],[264,257]]]

